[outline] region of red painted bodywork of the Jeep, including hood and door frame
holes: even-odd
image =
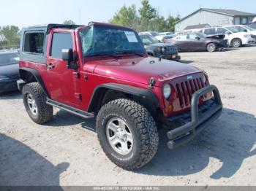
[[[84,27],[82,27],[84,28]],[[180,114],[189,109],[190,105],[181,107],[176,90],[176,84],[187,80],[187,76],[205,77],[203,71],[173,61],[159,61],[158,58],[149,58],[146,55],[123,55],[122,58],[83,58],[78,37],[79,28],[51,29],[48,36],[47,64],[52,64],[53,69],[48,69],[47,64],[20,61],[20,68],[29,67],[39,71],[50,98],[88,111],[91,96],[94,89],[108,82],[131,85],[148,89],[148,82],[154,77],[156,84],[152,91],[159,99],[159,108],[164,116]],[[61,59],[50,58],[50,47],[53,32],[65,32],[72,34],[74,52],[76,52],[79,68],[78,71],[67,69],[67,62]],[[86,76],[86,78],[85,78]],[[162,86],[169,83],[173,93],[168,100],[162,95]],[[208,80],[206,82],[208,85]],[[204,99],[210,98],[207,95]],[[172,106],[170,109],[170,105]],[[169,108],[169,109],[168,109]]]

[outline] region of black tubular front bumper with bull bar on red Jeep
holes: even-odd
[[[211,91],[214,93],[214,98],[210,101],[206,101],[205,104],[199,107],[199,98]],[[167,147],[169,149],[175,149],[176,147],[180,147],[191,141],[198,133],[208,127],[211,122],[217,120],[221,113],[222,101],[217,87],[210,85],[198,90],[192,96],[191,113],[188,117],[190,121],[181,127],[167,132],[167,137],[170,139],[170,141],[167,142]],[[170,117],[167,120],[173,122],[173,117]]]

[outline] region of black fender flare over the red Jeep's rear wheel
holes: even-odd
[[[23,71],[26,71],[26,72],[29,72],[30,74],[32,74],[34,79],[36,79],[36,81],[39,83],[39,85],[41,85],[42,89],[45,91],[48,98],[50,98],[48,90],[46,89],[45,83],[42,81],[42,78],[41,78],[39,72],[35,69],[31,69],[31,68],[28,68],[28,67],[23,67],[23,68],[19,69],[20,79],[23,79],[23,82],[24,82],[23,84],[19,85],[20,86],[19,90],[22,90],[23,85],[26,85],[28,83],[28,82],[26,82],[26,77],[23,75]]]

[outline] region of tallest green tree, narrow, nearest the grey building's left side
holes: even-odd
[[[139,9],[140,13],[140,21],[141,21],[141,29],[143,31],[148,31],[149,23],[152,19],[158,16],[157,9],[149,4],[148,0],[141,1],[142,7]]]

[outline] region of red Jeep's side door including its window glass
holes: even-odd
[[[49,35],[45,86],[54,101],[80,108],[79,69],[67,69],[67,61],[61,58],[62,49],[72,48],[76,52],[75,34],[73,31],[59,30]]]

